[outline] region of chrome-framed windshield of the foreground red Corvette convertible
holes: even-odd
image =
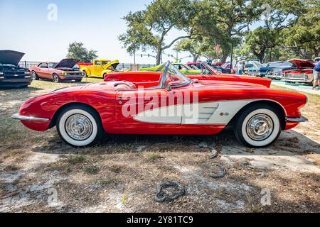
[[[191,79],[181,73],[171,62],[167,62],[161,67],[164,67],[164,74],[162,74],[161,78],[162,87],[168,82],[171,87],[182,87],[191,82]]]

